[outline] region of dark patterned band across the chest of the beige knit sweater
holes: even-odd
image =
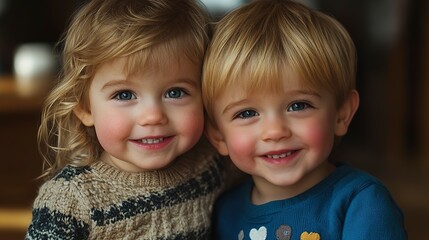
[[[219,171],[211,167],[195,179],[149,196],[130,198],[108,209],[92,209],[92,220],[98,226],[112,224],[133,216],[156,211],[210,194],[221,186]]]

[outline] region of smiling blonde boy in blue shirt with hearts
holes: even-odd
[[[359,105],[355,55],[338,21],[293,1],[252,1],[216,25],[207,135],[252,180],[217,202],[215,239],[406,239],[389,191],[329,161]]]

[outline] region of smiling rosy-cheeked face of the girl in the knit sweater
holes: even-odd
[[[125,62],[115,59],[97,69],[89,110],[77,116],[94,126],[103,161],[129,172],[166,167],[201,137],[200,67],[182,58],[127,75]]]

